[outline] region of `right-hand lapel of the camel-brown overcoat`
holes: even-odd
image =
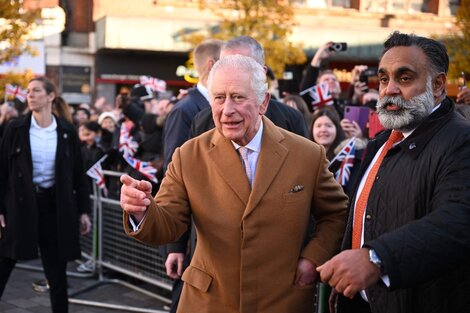
[[[243,218],[246,218],[253,212],[259,201],[268,191],[269,186],[278,175],[279,169],[289,152],[287,148],[280,143],[284,139],[282,133],[265,117],[263,117],[263,127],[263,138],[256,167],[256,176],[253,181],[253,189]]]

